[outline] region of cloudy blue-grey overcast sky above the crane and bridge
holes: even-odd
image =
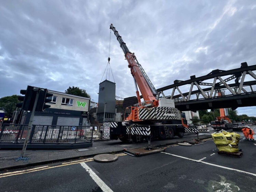
[[[256,64],[255,0],[0,2],[0,98],[27,85],[60,92],[76,86],[98,101],[111,23],[156,89],[241,62]],[[113,33],[110,58],[116,95],[135,96]],[[256,107],[238,113],[256,116]]]

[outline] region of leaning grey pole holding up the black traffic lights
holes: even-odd
[[[22,157],[25,156],[25,152],[26,152],[26,148],[27,148],[27,144],[28,144],[28,139],[30,137],[30,133],[31,133],[31,129],[32,129],[32,122],[34,120],[35,108],[37,107],[37,102],[38,102],[39,92],[40,92],[40,89],[38,89],[38,88],[34,88],[33,90],[36,91],[37,94],[35,96],[35,102],[34,102],[34,105],[33,105],[33,110],[31,112],[31,116],[29,118],[28,130],[27,130],[26,138],[25,138],[25,141],[24,141],[24,144],[23,144],[23,147],[22,147]]]

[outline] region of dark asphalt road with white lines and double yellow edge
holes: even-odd
[[[222,156],[208,139],[141,157],[119,153],[112,163],[87,158],[27,167],[1,172],[0,191],[256,191],[255,147],[240,141],[243,157]]]

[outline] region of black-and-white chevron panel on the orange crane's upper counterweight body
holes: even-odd
[[[139,119],[181,120],[181,113],[178,109],[173,107],[141,108],[139,109]]]

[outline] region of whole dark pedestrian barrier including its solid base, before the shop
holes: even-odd
[[[75,148],[75,145],[91,147],[95,127],[98,128],[97,125],[32,125],[27,148],[29,145],[32,148]],[[27,124],[3,124],[0,148],[20,148],[27,136],[27,130]]]

